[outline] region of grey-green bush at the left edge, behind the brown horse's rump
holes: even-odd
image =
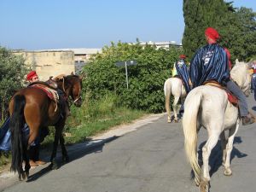
[[[21,56],[11,53],[9,49],[0,47],[0,118],[4,119],[8,103],[15,93],[22,87],[27,72],[25,61]]]

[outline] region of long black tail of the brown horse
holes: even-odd
[[[11,131],[11,141],[12,141],[12,162],[10,169],[14,172],[19,172],[20,166],[22,166],[23,161],[23,148],[21,129],[24,126],[24,107],[26,104],[25,96],[16,95],[14,100],[14,110],[10,117],[9,129]]]

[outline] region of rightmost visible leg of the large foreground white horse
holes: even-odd
[[[237,119],[236,125],[230,129],[230,134],[228,138],[228,143],[226,145],[226,160],[224,161],[224,175],[230,176],[232,175],[232,171],[230,169],[230,154],[233,148],[234,138],[236,136],[236,132],[238,131],[239,127],[239,119]]]

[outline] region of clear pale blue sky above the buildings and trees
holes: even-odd
[[[255,0],[233,2],[256,11]],[[137,38],[181,44],[183,30],[183,0],[0,0],[0,46],[8,49],[102,48]]]

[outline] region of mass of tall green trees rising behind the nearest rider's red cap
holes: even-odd
[[[235,9],[232,2],[223,0],[183,0],[185,54],[191,58],[196,49],[206,44],[204,31],[212,26],[222,37],[219,44],[230,49],[232,61],[255,58],[255,14],[252,9]]]

